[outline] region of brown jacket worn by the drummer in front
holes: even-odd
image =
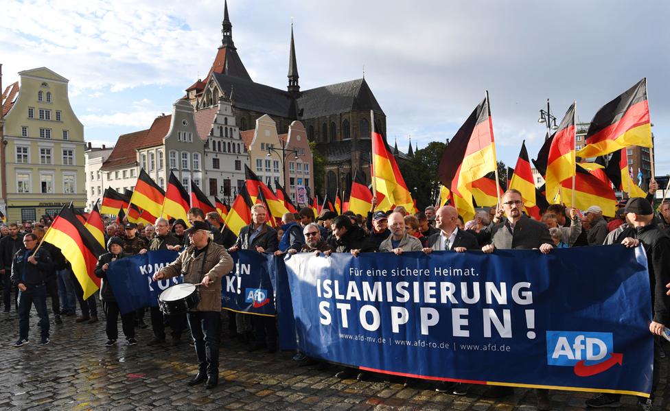
[[[233,269],[233,258],[223,246],[211,241],[198,257],[194,257],[194,251],[194,246],[188,246],[173,263],[159,272],[165,274],[165,278],[183,274],[184,282],[192,284],[209,277],[212,281],[209,287],[198,287],[200,303],[191,311],[221,311],[221,278]]]

